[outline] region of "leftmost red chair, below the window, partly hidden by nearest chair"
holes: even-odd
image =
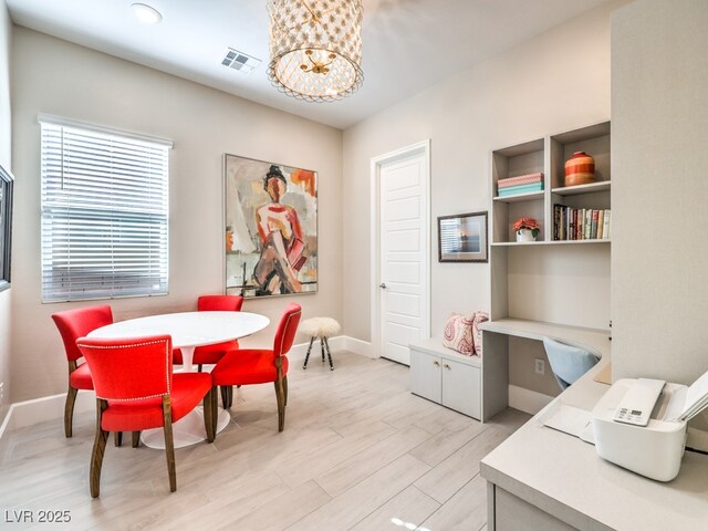
[[[76,340],[88,332],[113,323],[111,306],[90,306],[66,310],[52,315],[59,333],[64,342],[66,361],[69,362],[69,391],[64,405],[64,435],[72,436],[74,403],[79,389],[93,389],[91,371],[85,363],[79,364],[83,355],[76,346]]]

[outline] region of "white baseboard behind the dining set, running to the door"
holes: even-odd
[[[372,344],[366,341],[356,340],[346,335],[339,335],[330,339],[329,343],[333,355],[335,351],[342,350],[366,357],[374,357],[372,355]],[[310,346],[310,342],[293,345],[288,356],[294,360],[304,360],[305,354],[308,353],[308,346]],[[320,355],[319,341],[315,340],[315,343],[312,345],[312,350],[314,351],[313,355]],[[61,393],[59,395],[43,396],[32,400],[11,404],[7,415],[4,416],[2,425],[0,426],[0,438],[2,438],[6,433],[11,433],[19,428],[32,426],[45,420],[62,418],[64,416],[65,402],[66,394]],[[96,400],[93,391],[80,391],[76,395],[74,415],[93,412],[95,410],[95,407]]]

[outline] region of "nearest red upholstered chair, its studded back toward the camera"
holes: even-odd
[[[204,400],[207,439],[216,434],[216,392],[207,373],[173,375],[169,335],[124,340],[81,337],[79,348],[91,367],[96,391],[96,438],[91,455],[91,496],[101,488],[101,466],[110,431],[165,430],[169,490],[177,490],[173,423]]]

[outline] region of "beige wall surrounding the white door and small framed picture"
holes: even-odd
[[[590,11],[345,131],[343,313],[348,335],[371,340],[371,158],[431,139],[433,335],[441,334],[452,311],[489,311],[489,266],[438,263],[436,218],[489,210],[492,149],[610,117],[610,13],[621,3]],[[593,281],[575,283],[569,293],[558,290],[558,271],[542,267],[543,260],[527,263],[523,253],[514,253],[511,281],[525,271],[534,290],[551,293],[541,315],[533,308],[539,301],[527,298],[512,301],[516,312],[606,326],[608,257],[606,250],[600,254]]]

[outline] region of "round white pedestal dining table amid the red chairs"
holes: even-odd
[[[96,329],[88,337],[123,340],[145,335],[169,334],[173,348],[179,348],[183,371],[194,371],[194,354],[197,346],[212,345],[238,340],[263,330],[270,320],[264,315],[248,312],[183,312],[148,315],[118,321]],[[219,408],[217,431],[227,427],[231,416]],[[194,445],[207,438],[204,427],[204,410],[196,408],[173,425],[175,448]],[[150,448],[165,448],[162,429],[146,429],[140,439]]]

